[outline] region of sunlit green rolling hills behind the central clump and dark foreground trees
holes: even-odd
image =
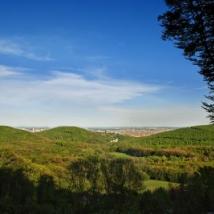
[[[118,143],[111,142],[117,137]],[[152,179],[179,182],[201,166],[214,166],[214,126],[197,126],[144,138],[57,127],[30,133],[0,127],[1,167],[24,168],[33,180],[49,174],[68,185],[69,165],[92,156],[132,159]],[[157,173],[158,172],[158,173]]]

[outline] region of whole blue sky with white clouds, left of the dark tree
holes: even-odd
[[[197,67],[161,40],[163,0],[2,0],[0,123],[206,124]]]

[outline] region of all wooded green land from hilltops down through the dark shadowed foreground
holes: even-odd
[[[118,142],[112,142],[118,138]],[[0,127],[1,213],[214,211],[214,126],[134,138]]]

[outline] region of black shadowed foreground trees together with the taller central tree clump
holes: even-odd
[[[90,163],[81,160],[72,164],[71,183],[74,184],[67,189],[59,188],[50,176],[43,175],[34,184],[21,169],[1,168],[0,213],[214,212],[214,168],[201,168],[187,184],[180,187],[151,192],[139,190],[143,177],[135,171],[132,162],[121,159],[118,162],[109,160],[99,166],[96,163],[97,160],[92,159]],[[103,167],[103,171],[96,170],[99,167]],[[98,182],[101,172],[105,176],[103,183]]]

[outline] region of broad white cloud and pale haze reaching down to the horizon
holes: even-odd
[[[46,77],[14,76],[0,66],[0,120],[11,125],[187,126],[206,124],[200,103],[155,105],[164,87],[52,71]],[[96,72],[95,72],[96,73]],[[11,78],[10,78],[11,77]],[[150,104],[129,105],[153,96]]]

